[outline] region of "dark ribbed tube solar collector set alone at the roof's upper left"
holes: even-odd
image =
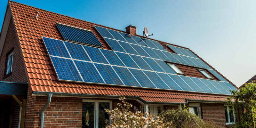
[[[65,40],[103,47],[92,31],[59,23],[57,23],[57,27]]]

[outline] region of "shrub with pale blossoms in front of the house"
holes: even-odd
[[[147,112],[145,115],[141,111],[133,113],[129,111],[132,104],[127,103],[124,97],[120,97],[119,100],[122,101],[122,104],[117,104],[119,108],[111,111],[105,109],[111,119],[110,125],[106,125],[106,128],[172,128],[172,122],[163,123],[161,117],[150,116]]]

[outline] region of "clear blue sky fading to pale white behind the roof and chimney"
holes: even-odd
[[[16,0],[16,2],[188,47],[238,87],[256,74],[256,1]],[[7,0],[0,1],[3,22]],[[2,24],[1,24],[2,26]]]

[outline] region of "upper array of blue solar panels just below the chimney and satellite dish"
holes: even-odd
[[[177,53],[175,54],[168,52],[161,44],[154,40],[129,35],[99,26],[95,26],[95,28],[109,44],[113,51],[140,55],[142,57],[149,57],[152,59],[159,59],[199,68],[206,68],[219,80],[226,81],[222,76],[220,76],[218,73],[215,73],[211,67],[205,64],[188,49],[167,44],[168,47]]]

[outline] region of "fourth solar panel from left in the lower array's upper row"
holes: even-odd
[[[108,62],[112,65],[124,66],[122,61],[118,58],[114,51],[100,49],[102,54],[107,58]]]

